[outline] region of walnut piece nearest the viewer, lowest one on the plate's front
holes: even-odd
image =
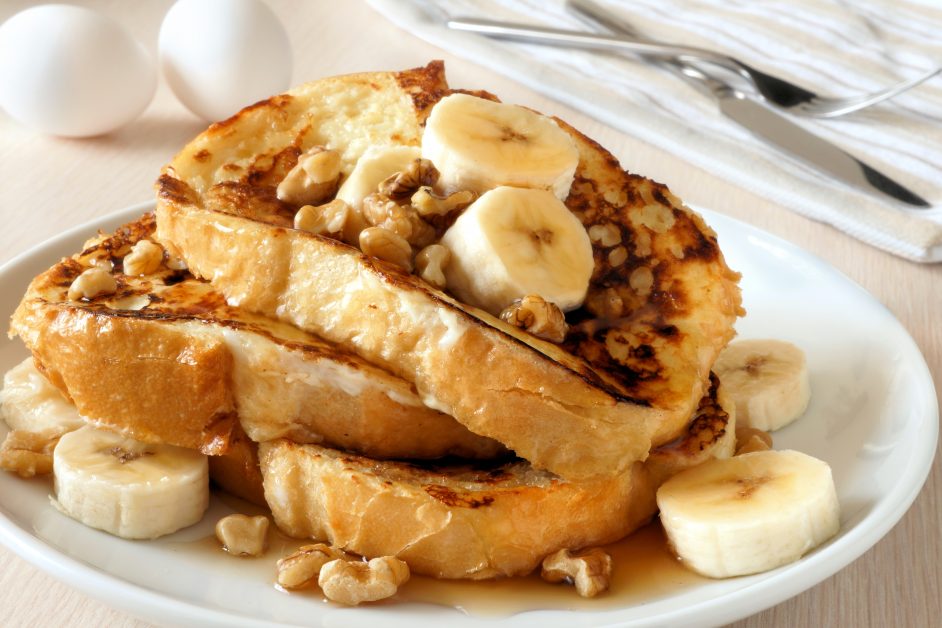
[[[356,606],[395,595],[407,580],[409,566],[393,556],[383,556],[368,563],[332,560],[321,567],[317,584],[328,600]]]

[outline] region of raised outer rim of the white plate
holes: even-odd
[[[30,247],[3,265],[0,265],[0,276],[15,273],[21,266],[34,262],[36,255],[41,251],[63,248],[67,244],[72,245],[76,241],[84,241],[89,233],[93,233],[97,229],[113,229],[123,222],[133,220],[144,212],[152,210],[154,207],[155,201],[144,201],[92,218],[71,227],[62,233]],[[804,574],[805,577],[786,577],[783,580],[780,576],[785,576],[790,570],[794,569],[792,565],[786,565],[780,568],[782,570],[781,574],[777,574],[775,571],[769,572],[771,577],[764,578],[744,586],[741,589],[724,594],[722,596],[724,604],[717,604],[715,599],[710,599],[688,604],[682,608],[666,613],[660,613],[657,617],[628,620],[630,625],[636,626],[685,622],[690,621],[692,616],[696,617],[698,623],[725,623],[735,621],[780,604],[803,591],[811,589],[826,578],[845,568],[876,545],[880,539],[896,526],[909,510],[916,497],[922,491],[932,469],[939,435],[939,405],[928,364],[909,331],[885,305],[852,278],[798,245],[737,218],[699,206],[691,206],[691,208],[704,215],[707,219],[707,223],[711,227],[715,228],[717,225],[726,223],[725,228],[721,227],[718,230],[720,238],[722,238],[723,232],[730,228],[739,229],[747,236],[758,237],[780,249],[784,249],[790,255],[798,255],[811,260],[817,268],[827,270],[846,284],[853,286],[862,296],[882,307],[885,314],[898,325],[899,331],[902,332],[907,344],[905,347],[908,358],[907,364],[916,367],[919,372],[919,385],[925,388],[925,392],[927,393],[922,397],[926,400],[926,414],[923,416],[922,413],[920,413],[920,416],[927,425],[928,433],[925,434],[925,436],[928,438],[924,438],[921,441],[923,443],[921,452],[917,452],[921,453],[921,455],[910,457],[904,472],[899,476],[900,481],[897,483],[897,486],[903,486],[904,490],[891,493],[889,495],[891,499],[881,499],[880,503],[862,520],[867,522],[875,520],[872,524],[861,529],[861,525],[858,523],[840,538],[832,541],[825,551],[815,552],[804,557],[801,562],[800,573]],[[15,299],[17,299],[16,296],[11,297],[11,301]],[[160,618],[161,621],[169,619],[174,622],[184,623],[198,621],[200,625],[207,626],[284,627],[293,625],[281,622],[269,622],[258,618],[247,618],[235,613],[220,611],[175,597],[172,594],[151,590],[118,576],[114,576],[98,567],[73,558],[65,552],[47,544],[38,536],[31,534],[28,530],[24,529],[7,516],[6,509],[3,507],[2,503],[0,503],[0,542],[27,562],[52,575],[68,586],[98,599],[111,607],[119,608],[131,615],[142,617],[150,621],[153,621],[155,618]],[[609,609],[599,611],[598,613],[592,611],[572,612],[576,615],[584,614],[588,617],[595,615],[599,622],[591,622],[593,625],[613,625],[609,623],[612,620],[619,623],[619,625],[624,625],[624,620],[619,621],[611,617],[611,615],[617,614],[619,610],[620,609]],[[558,611],[547,612],[555,613]],[[526,616],[527,614],[529,613],[523,613],[516,617]],[[514,616],[511,616],[507,619],[513,619],[513,617]],[[465,619],[479,620],[480,623],[494,623],[493,620],[486,618],[465,617]]]

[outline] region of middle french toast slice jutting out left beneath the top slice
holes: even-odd
[[[505,450],[427,408],[407,382],[290,325],[228,306],[161,265],[123,272],[154,216],[101,236],[31,283],[12,320],[45,375],[82,415],[145,442],[224,453],[251,439],[323,442],[377,458],[490,458]],[[70,300],[92,262],[118,290]]]

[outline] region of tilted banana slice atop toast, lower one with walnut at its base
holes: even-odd
[[[497,316],[539,295],[563,311],[582,304],[595,263],[579,219],[546,190],[498,187],[472,203],[441,243],[448,289]]]

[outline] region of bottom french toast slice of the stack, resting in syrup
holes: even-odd
[[[523,575],[561,548],[621,539],[656,512],[655,493],[670,476],[731,456],[733,406],[718,394],[710,389],[685,438],[616,475],[567,481],[519,460],[381,462],[278,440],[259,447],[265,497],[285,533],[397,556],[413,573]]]

